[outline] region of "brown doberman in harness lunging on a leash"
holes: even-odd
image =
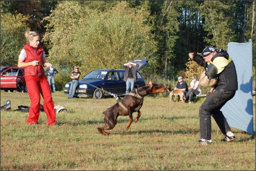
[[[143,105],[143,98],[148,94],[161,93],[166,91],[166,87],[159,86],[158,84],[153,84],[149,82],[149,86],[141,87],[139,89],[132,90],[123,99],[120,99],[114,106],[108,108],[103,112],[105,126],[98,127],[98,131],[102,135],[108,135],[109,133],[105,130],[113,129],[116,125],[116,119],[118,116],[128,116],[129,115],[129,124],[126,126],[128,130],[133,122],[132,113],[138,112],[138,116],[135,119],[137,122],[141,116],[141,107]]]

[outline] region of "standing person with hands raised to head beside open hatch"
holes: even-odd
[[[138,71],[139,66],[140,65],[138,63],[136,64],[133,62],[123,64],[123,68],[125,70],[124,81],[126,82],[125,94],[128,94],[130,91],[133,90],[134,82],[136,82],[138,79],[137,71]]]

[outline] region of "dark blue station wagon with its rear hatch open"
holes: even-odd
[[[148,64],[148,60],[133,60],[129,62],[138,63],[138,71]],[[79,80],[75,97],[102,99],[103,97],[112,96],[112,94],[125,95],[126,83],[123,80],[124,73],[125,71],[123,69],[94,70]],[[134,88],[144,87],[145,80],[139,72],[137,72],[137,75],[138,80],[135,82]],[[71,82],[68,82],[63,89],[66,96],[68,96],[70,84]]]

